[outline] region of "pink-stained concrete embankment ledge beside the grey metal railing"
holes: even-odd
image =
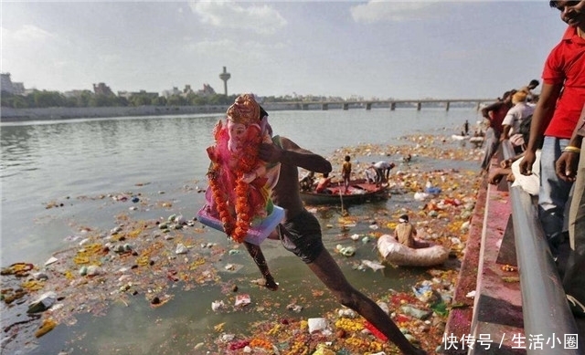
[[[444,354],[527,353],[514,343],[526,335],[514,239],[505,238],[511,206],[502,186],[484,180],[478,194]]]

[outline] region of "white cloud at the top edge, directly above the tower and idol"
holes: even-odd
[[[204,24],[219,28],[271,35],[287,24],[284,17],[269,5],[202,1],[189,3],[189,6]]]

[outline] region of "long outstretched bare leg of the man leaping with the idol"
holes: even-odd
[[[417,349],[404,337],[400,329],[388,317],[384,310],[379,308],[376,302],[367,298],[347,282],[346,277],[337,263],[335,263],[334,258],[325,249],[323,249],[312,263],[308,263],[307,266],[333,292],[335,298],[342,305],[355,310],[362,317],[366,318],[376,329],[396,344],[403,353],[414,355],[426,354],[424,350]]]

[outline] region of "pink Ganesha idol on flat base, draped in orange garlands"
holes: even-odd
[[[228,109],[226,124],[219,120],[213,134],[215,144],[207,148],[207,204],[199,221],[238,243],[260,244],[283,214],[271,203],[280,164],[258,158],[261,143],[272,141],[268,115],[251,94],[240,95]]]

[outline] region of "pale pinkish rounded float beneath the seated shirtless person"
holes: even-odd
[[[378,238],[378,252],[384,262],[396,266],[436,266],[449,258],[449,250],[442,245],[414,249],[401,245],[392,235]]]

